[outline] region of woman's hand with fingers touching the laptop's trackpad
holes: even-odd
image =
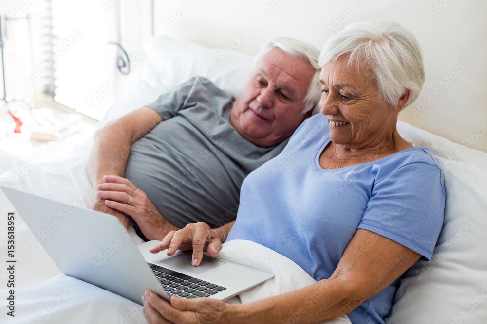
[[[198,266],[203,259],[203,252],[210,256],[216,256],[222,248],[225,237],[218,236],[217,230],[212,230],[204,222],[187,224],[179,231],[172,231],[162,240],[159,245],[150,249],[152,253],[168,249],[168,256],[172,256],[177,250],[193,250],[191,264]]]

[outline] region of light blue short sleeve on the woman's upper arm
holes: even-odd
[[[358,228],[392,239],[430,260],[445,211],[439,165],[415,162],[383,172],[377,174]]]

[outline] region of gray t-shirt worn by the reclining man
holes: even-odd
[[[287,142],[262,148],[245,140],[229,122],[234,102],[195,77],[148,105],[164,121],[132,144],[125,177],[177,227],[233,221],[245,176]]]

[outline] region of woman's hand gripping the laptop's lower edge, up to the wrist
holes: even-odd
[[[185,299],[171,297],[170,304],[147,290],[142,296],[144,312],[150,324],[161,323],[235,323],[232,305],[214,298]]]

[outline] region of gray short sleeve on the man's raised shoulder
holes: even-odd
[[[198,84],[198,77],[191,78],[182,85],[160,95],[155,102],[146,106],[154,109],[164,120],[170,119],[186,107],[187,98]]]

